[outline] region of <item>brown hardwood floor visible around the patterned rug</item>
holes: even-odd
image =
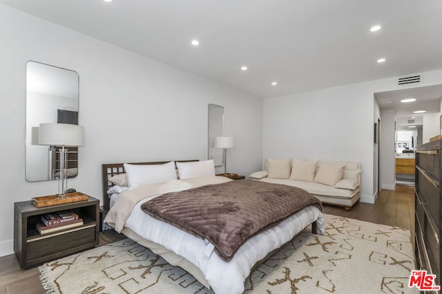
[[[382,190],[375,204],[359,202],[352,211],[324,205],[323,212],[345,216],[366,222],[403,227],[414,231],[414,190],[412,187],[396,186],[396,191]],[[100,234],[100,245],[122,238],[106,230]],[[45,293],[39,280],[37,268],[23,270],[15,255],[0,258],[0,294],[42,294]]]

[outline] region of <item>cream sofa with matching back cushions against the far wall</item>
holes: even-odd
[[[266,170],[249,177],[305,189],[323,203],[345,210],[361,198],[360,162],[266,159]]]

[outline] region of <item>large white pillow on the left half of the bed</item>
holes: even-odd
[[[155,184],[176,180],[175,162],[167,162],[164,165],[130,165],[124,163],[129,190],[142,185]]]

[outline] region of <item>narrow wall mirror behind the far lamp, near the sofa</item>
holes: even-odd
[[[215,167],[222,166],[222,149],[215,148],[215,137],[224,136],[224,107],[209,104],[207,158],[213,159]]]

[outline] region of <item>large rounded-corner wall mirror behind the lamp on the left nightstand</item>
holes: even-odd
[[[78,125],[79,76],[73,70],[28,61],[26,63],[26,180],[57,180],[56,147],[39,145],[41,123]],[[67,178],[78,174],[78,149],[68,148]]]

